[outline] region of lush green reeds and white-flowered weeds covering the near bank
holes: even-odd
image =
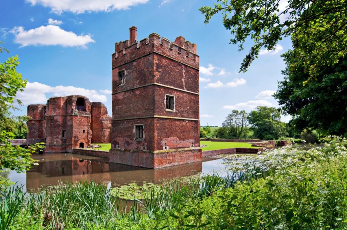
[[[35,196],[7,190],[0,229],[346,229],[346,146],[333,139],[322,148],[281,148],[225,178],[152,187],[129,212],[93,182]]]

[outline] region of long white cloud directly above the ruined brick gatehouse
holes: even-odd
[[[82,95],[88,97],[90,101],[107,101],[107,97],[98,94],[96,90],[62,85],[52,87],[39,82],[28,82],[24,91],[17,93],[17,99],[21,100],[25,105],[46,103],[48,100],[47,94],[53,94],[53,96]]]

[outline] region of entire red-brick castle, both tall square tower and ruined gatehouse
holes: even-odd
[[[111,142],[110,162],[145,168],[201,161],[196,44],[129,30],[112,54],[112,119],[86,97],[52,97],[28,106],[28,138],[46,138],[45,152]]]

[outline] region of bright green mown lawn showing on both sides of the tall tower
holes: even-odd
[[[111,149],[111,144],[94,144],[94,145],[101,146],[101,148],[96,148],[96,150],[110,151]],[[257,147],[252,147],[252,144],[250,143],[244,143],[244,142],[200,141],[200,145],[207,145],[206,147],[202,148],[202,151],[219,150],[223,148],[257,148]]]

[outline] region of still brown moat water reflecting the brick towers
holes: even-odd
[[[75,182],[81,180],[94,180],[101,183],[110,183],[112,187],[121,186],[131,182],[160,183],[177,177],[210,174],[212,171],[226,172],[227,159],[205,157],[202,162],[195,162],[162,169],[146,169],[135,166],[109,163],[108,159],[85,156],[71,153],[37,154],[33,155],[39,160],[26,173],[15,171],[1,172],[0,176],[23,185],[23,190],[54,186],[59,183]]]

